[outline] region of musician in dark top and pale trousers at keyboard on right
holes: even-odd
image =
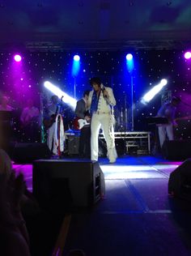
[[[163,143],[166,140],[166,137],[168,138],[168,140],[174,139],[173,126],[177,126],[175,115],[176,107],[179,104],[180,98],[173,96],[172,100],[170,102],[164,103],[157,113],[157,117],[166,117],[168,119],[167,124],[158,125],[159,143],[161,148],[163,147]]]

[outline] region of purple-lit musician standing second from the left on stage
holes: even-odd
[[[33,100],[28,100],[28,106],[23,109],[20,121],[27,142],[38,142],[40,140],[40,111],[34,106]]]

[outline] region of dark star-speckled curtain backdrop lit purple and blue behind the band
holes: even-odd
[[[18,53],[18,52],[17,52]],[[83,96],[87,89],[91,90],[89,79],[100,76],[105,86],[112,87],[117,99],[114,112],[117,117],[117,130],[124,130],[125,106],[131,109],[131,80],[127,74],[125,57],[128,52],[99,51],[79,52],[80,70],[75,79],[76,100]],[[182,102],[177,111],[177,117],[187,117],[179,121],[176,137],[190,139],[191,107],[185,105],[191,102],[191,61],[185,59],[185,51],[134,51],[134,130],[151,130],[146,125],[146,116],[155,116],[161,104],[163,91],[172,91],[172,96],[180,96]],[[72,62],[74,52],[21,52],[21,62],[15,62],[14,52],[0,53],[0,94],[6,94],[9,105],[15,108],[15,137],[22,140],[23,134],[19,128],[19,115],[26,106],[28,98],[40,108],[49,102],[52,94],[44,87],[48,80],[56,84],[63,92],[74,97],[74,77]],[[18,65],[19,64],[19,65]],[[161,79],[168,79],[165,89],[161,90],[147,105],[142,105],[142,96],[146,94]],[[64,123],[66,129],[72,123],[74,111],[66,105]],[[128,117],[127,117],[128,118]]]

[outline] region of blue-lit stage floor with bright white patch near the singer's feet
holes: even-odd
[[[70,220],[64,218],[68,229],[63,255],[72,249],[88,256],[191,255],[190,203],[168,195],[169,175],[181,162],[123,156],[115,164],[100,158],[99,164],[105,197],[91,211],[70,212]],[[14,164],[14,169],[24,174],[32,190],[32,164]],[[33,242],[32,255],[37,255],[36,247]]]

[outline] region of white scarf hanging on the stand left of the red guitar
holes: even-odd
[[[59,136],[57,134],[58,117],[60,117],[60,127],[59,127],[60,128],[60,134],[59,134],[60,139],[58,139]],[[56,126],[55,126],[55,144],[56,144],[56,147],[58,147],[58,152],[64,151],[64,142],[65,142],[65,133],[64,133],[63,118],[62,118],[62,115],[60,113],[58,113],[57,117],[56,117]]]

